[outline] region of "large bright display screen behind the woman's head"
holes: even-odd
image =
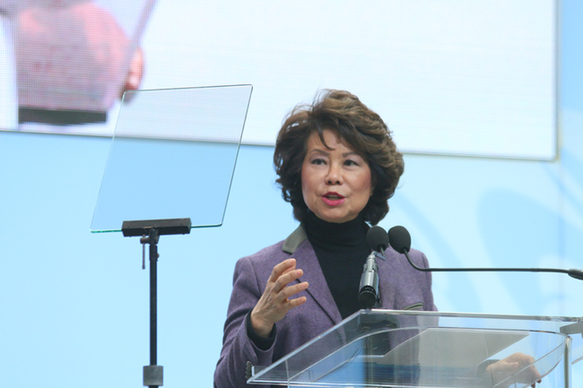
[[[2,130],[109,136],[123,91],[250,83],[245,143],[343,89],[401,151],[556,156],[556,0],[2,0],[0,18]]]

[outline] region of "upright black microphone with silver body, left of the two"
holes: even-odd
[[[385,249],[388,246],[388,235],[385,229],[374,226],[367,232],[367,244],[372,252],[364,263],[361,275],[361,285],[358,303],[362,308],[380,306],[379,297],[379,266],[377,256],[385,260]]]

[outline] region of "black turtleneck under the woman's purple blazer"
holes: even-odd
[[[304,228],[344,319],[361,309],[358,292],[362,266],[370,254],[366,242],[369,226],[361,214],[354,220],[336,224],[320,220],[309,211]]]

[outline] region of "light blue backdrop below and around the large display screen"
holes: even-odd
[[[560,26],[557,160],[405,156],[380,226],[408,228],[432,266],[583,267],[581,2],[562,2]],[[107,138],[0,133],[1,386],[142,386],[142,247],[89,232],[109,146]],[[272,155],[242,146],[222,227],[161,237],[164,386],[212,385],[234,263],[296,227]],[[564,275],[433,279],[442,311],[583,315],[583,282]]]

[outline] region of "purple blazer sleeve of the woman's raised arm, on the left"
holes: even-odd
[[[266,280],[259,279],[248,257],[235,265],[233,289],[227,320],[224,324],[221,357],[214,371],[215,388],[247,388],[265,385],[247,384],[248,364],[270,365],[274,346],[267,350],[257,348],[247,334],[245,319],[263,294]],[[276,334],[277,336],[277,334]]]

